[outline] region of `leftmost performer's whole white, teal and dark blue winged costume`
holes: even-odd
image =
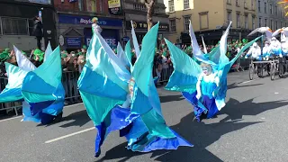
[[[23,101],[23,121],[47,124],[62,116],[65,91],[61,83],[60,50],[48,49],[40,67],[33,66],[16,48],[19,67],[5,64],[9,83],[0,94],[0,102]]]

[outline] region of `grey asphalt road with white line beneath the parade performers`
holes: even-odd
[[[158,89],[167,124],[193,148],[135,153],[113,132],[94,157],[96,130],[83,104],[68,106],[63,121],[41,126],[22,117],[0,121],[1,162],[94,161],[288,161],[288,85],[286,79],[248,80],[247,72],[229,74],[227,105],[211,120],[193,120],[181,94]]]

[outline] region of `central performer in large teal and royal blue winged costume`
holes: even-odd
[[[157,30],[158,23],[144,37],[134,66],[131,56],[127,57],[130,70],[99,32],[94,32],[78,87],[87,113],[98,130],[95,157],[100,156],[103,140],[112,130],[120,130],[120,135],[128,140],[127,148],[132,151],[192,146],[166,126],[161,112],[151,76],[154,58],[151,53],[155,52]],[[129,47],[130,42],[125,51],[130,51]]]

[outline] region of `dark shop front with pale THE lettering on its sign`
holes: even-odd
[[[157,24],[157,23],[154,23]],[[148,31],[148,25],[146,22],[133,22],[132,24],[130,23],[130,21],[126,21],[126,34],[128,37],[131,37],[131,25],[133,25],[133,28],[135,30],[135,34],[137,37],[137,40],[139,42],[139,44],[141,44],[145,34]],[[163,40],[163,38],[165,38],[165,35],[169,32],[169,23],[159,23],[159,30],[158,30],[158,42],[157,45],[159,45],[161,43],[161,41]]]

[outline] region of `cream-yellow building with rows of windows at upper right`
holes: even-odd
[[[265,21],[268,21],[268,19],[270,23],[272,20],[272,23],[275,24],[274,22],[277,20],[278,26],[281,26],[281,22],[284,25],[284,19],[281,17],[283,15],[281,7],[277,6],[275,1],[266,1],[166,0],[166,13],[169,14],[171,32],[168,38],[175,43],[190,43],[188,34],[189,20],[193,23],[193,30],[197,39],[201,40],[202,36],[207,44],[215,44],[220,40],[220,36],[226,30],[229,21],[232,21],[229,40],[247,38],[247,34],[259,25],[268,25],[268,22],[266,23]],[[274,8],[277,6],[276,11],[279,14],[272,12],[269,15],[268,12],[270,12],[270,9],[265,9],[265,2],[267,7],[270,7],[270,4]],[[267,14],[263,15],[262,11],[266,11]],[[280,21],[280,19],[283,21]],[[272,29],[275,28],[273,26]],[[249,37],[248,39],[253,38]]]

